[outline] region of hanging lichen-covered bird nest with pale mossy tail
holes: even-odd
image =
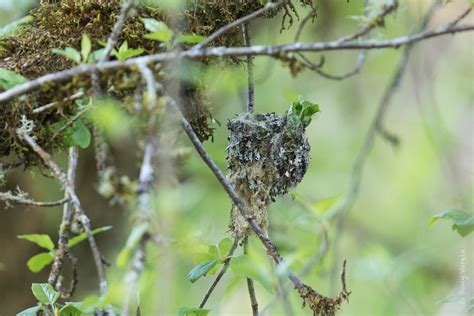
[[[248,216],[266,231],[269,204],[301,182],[308,168],[311,148],[305,127],[287,115],[244,113],[230,120],[228,128],[228,178],[249,207]],[[238,238],[252,232],[235,205],[230,230]]]

